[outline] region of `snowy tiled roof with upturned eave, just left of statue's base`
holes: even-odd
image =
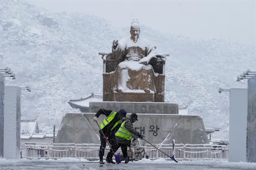
[[[92,93],[90,96],[87,96],[85,98],[71,99],[68,101],[68,103],[70,104],[71,107],[75,109],[80,109],[82,107],[89,107],[90,101],[103,101],[103,96],[95,95]]]

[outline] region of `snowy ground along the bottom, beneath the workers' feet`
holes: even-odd
[[[7,160],[0,159],[1,170],[255,170],[256,163],[247,162],[228,162],[222,160],[194,160],[194,161],[179,161],[178,163],[157,159],[149,160],[142,159],[139,161],[129,162],[124,164],[108,164],[105,162],[103,167],[99,167],[98,161],[88,161],[86,159],[64,158],[57,160],[45,159],[21,159]]]

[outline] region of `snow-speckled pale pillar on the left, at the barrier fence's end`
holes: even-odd
[[[5,85],[3,157],[20,159],[21,90],[17,85]]]

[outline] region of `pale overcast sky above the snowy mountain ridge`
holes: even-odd
[[[105,18],[115,26],[132,19],[163,33],[194,39],[230,38],[256,44],[256,1],[24,0],[51,12],[80,12]]]

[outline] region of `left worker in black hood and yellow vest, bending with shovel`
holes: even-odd
[[[116,136],[115,133],[119,129],[122,123],[122,119],[125,117],[127,112],[124,109],[119,110],[118,112],[111,111],[111,110],[105,110],[105,109],[99,109],[94,117],[94,121],[98,122],[98,117],[104,114],[106,115],[106,118],[103,120],[103,122],[100,125],[100,128],[106,138],[104,138],[103,134],[101,133],[101,130],[99,130],[100,134],[100,141],[101,146],[99,147],[99,164],[104,164],[103,162],[103,156],[106,148],[106,141],[108,140],[112,147],[116,147]],[[107,160],[106,162],[115,164],[113,160]]]

